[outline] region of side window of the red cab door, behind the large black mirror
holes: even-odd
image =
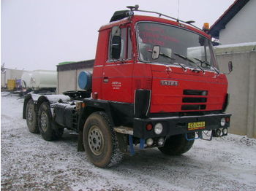
[[[130,28],[121,28],[118,36],[113,36],[113,30],[110,33],[110,46],[108,60],[127,60],[132,59],[132,40]]]

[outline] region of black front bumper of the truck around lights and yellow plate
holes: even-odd
[[[202,116],[184,116],[184,117],[151,117],[151,118],[134,118],[133,136],[147,139],[161,136],[173,136],[178,134],[191,133],[198,130],[214,130],[218,128],[229,128],[230,120],[224,126],[220,125],[222,118],[230,117],[231,114],[206,114]],[[158,122],[162,123],[162,133],[157,135],[154,128],[146,130],[146,125],[151,123],[154,127]],[[197,130],[188,130],[189,122],[205,122],[205,128]]]

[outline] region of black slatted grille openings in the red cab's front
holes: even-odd
[[[182,105],[181,110],[203,110],[206,109],[207,98],[201,97],[208,95],[207,90],[184,90],[184,95],[198,95],[195,97],[184,97],[182,98],[182,103],[186,103],[187,105]],[[198,104],[196,104],[198,103]],[[205,104],[200,104],[205,103]]]

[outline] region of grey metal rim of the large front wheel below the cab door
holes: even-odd
[[[94,155],[100,155],[102,153],[104,139],[102,131],[95,125],[89,130],[88,143]]]

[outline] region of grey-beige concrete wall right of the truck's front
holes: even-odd
[[[256,43],[219,46],[215,49],[221,71],[227,72],[233,61],[233,72],[227,75],[231,117],[230,133],[256,138]]]

